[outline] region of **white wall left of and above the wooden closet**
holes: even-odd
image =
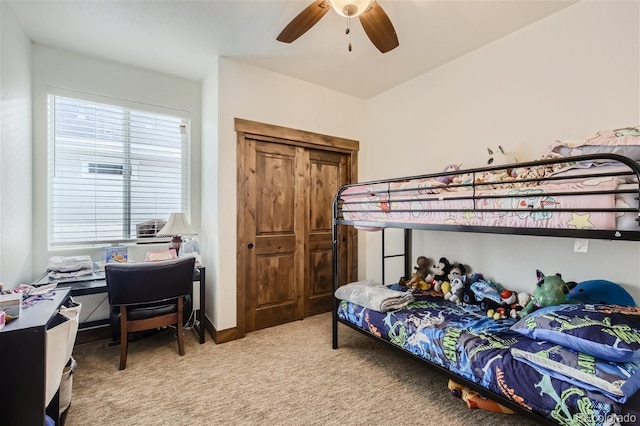
[[[205,258],[214,274],[209,276],[215,286],[215,317],[211,318],[217,330],[236,325],[236,133],[234,118],[259,121],[331,136],[362,140],[364,133],[364,101],[328,90],[282,74],[266,71],[227,58],[220,58],[218,70],[212,72],[211,81],[218,80],[218,179],[203,182],[203,212],[215,214],[219,250],[215,258]],[[207,79],[206,81],[208,81]],[[208,85],[205,85],[208,87]],[[206,96],[214,96],[210,90]],[[206,101],[208,102],[208,101]],[[213,108],[212,108],[213,109]],[[204,117],[205,127],[215,118]],[[216,160],[206,148],[203,162]],[[217,203],[215,200],[217,194]],[[213,229],[214,227],[212,227]],[[209,271],[209,269],[208,269]],[[207,272],[209,274],[209,272]],[[209,284],[210,285],[210,284]],[[209,312],[209,310],[207,310]]]

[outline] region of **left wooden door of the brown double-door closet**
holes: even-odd
[[[304,251],[298,243],[304,210],[297,208],[299,148],[252,141],[242,230],[247,243],[246,331],[301,319]]]

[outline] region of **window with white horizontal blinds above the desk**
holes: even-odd
[[[189,215],[188,113],[55,88],[48,107],[51,247],[153,238],[149,223]]]

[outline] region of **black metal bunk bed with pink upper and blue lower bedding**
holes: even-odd
[[[344,267],[339,244],[349,227],[404,229],[407,278],[414,259],[412,230],[640,241],[640,155],[618,152],[556,150],[526,163],[447,168],[441,173],[346,185],[333,202],[334,291],[347,284],[339,282]],[[400,284],[390,288],[406,290]],[[334,297],[333,348],[338,348],[338,324],[344,324],[540,424],[640,421],[640,394],[635,392],[640,388],[640,372],[635,374],[640,361],[612,364],[627,368],[624,392],[544,374],[511,350],[532,341],[542,344],[512,330],[518,319],[494,321],[475,306],[455,304],[433,292],[415,294],[405,307],[382,312]]]

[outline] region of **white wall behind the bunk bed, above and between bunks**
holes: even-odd
[[[428,173],[450,163],[481,166],[486,147],[498,144],[532,160],[556,139],[639,124],[638,8],[638,2],[580,2],[370,99],[360,178]],[[380,279],[379,236],[364,237],[362,275]],[[536,268],[570,280],[610,279],[640,300],[640,244],[590,241],[586,254],[574,253],[573,244],[416,232],[414,255],[462,261],[520,290],[533,289]]]

